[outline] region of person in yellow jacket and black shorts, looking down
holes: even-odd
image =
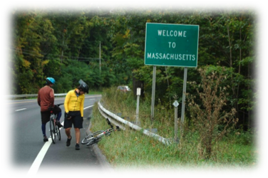
[[[83,128],[83,105],[85,93],[88,93],[88,85],[81,83],[75,90],[70,90],[64,101],[65,119],[63,128],[67,135],[66,146],[71,145],[71,127],[76,131],[76,150],[80,150],[80,129]]]

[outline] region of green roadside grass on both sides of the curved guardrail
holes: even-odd
[[[122,112],[123,115],[130,115],[129,113],[135,113],[135,102],[132,97],[131,93],[115,93],[113,90],[108,90],[103,93],[101,103],[114,113]],[[145,105],[148,105],[148,108]],[[163,110],[159,106],[157,108]],[[150,113],[148,101],[141,103],[140,112],[141,115],[148,116]],[[140,121],[145,127],[158,127],[160,136],[174,137],[174,125],[171,120],[169,122],[168,114],[170,113],[165,110],[163,114],[158,113],[158,118],[155,119],[157,123],[153,125],[150,125],[150,117],[140,117]],[[135,117],[131,117],[133,118]],[[93,107],[91,123],[91,132],[108,128],[105,118],[98,111],[97,104]],[[262,173],[266,152],[262,139],[256,140],[256,135],[247,135],[247,137],[243,134],[229,135],[214,144],[212,157],[205,160],[200,157],[197,132],[191,129],[185,132],[180,145],[167,146],[141,132],[127,129],[104,137],[98,143],[98,147],[118,175],[244,176]],[[244,140],[252,140],[252,142],[244,142]]]

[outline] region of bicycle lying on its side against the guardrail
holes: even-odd
[[[115,132],[115,131],[120,131],[120,127],[118,125],[116,125],[116,128],[113,129],[113,125],[110,123],[110,120],[108,120],[108,118],[106,118],[108,125],[110,125],[110,128],[108,128],[107,130],[99,130],[97,132],[93,132],[90,135],[87,135],[82,141],[81,144],[83,145],[93,145],[96,144],[100,141],[100,139],[105,135],[108,136],[111,134],[111,132]]]

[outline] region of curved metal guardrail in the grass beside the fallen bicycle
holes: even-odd
[[[143,130],[143,134],[148,135],[149,137],[153,137],[155,138],[155,140],[163,142],[163,144],[165,145],[170,145],[171,143],[170,140],[164,137],[161,137],[160,135],[157,135],[153,132],[145,130],[142,127],[139,127],[138,125],[133,124],[132,122],[128,122],[127,120],[124,120],[123,118],[118,117],[118,115],[115,115],[113,112],[110,112],[106,110],[105,108],[103,108],[100,102],[98,102],[98,110],[100,111],[100,114],[103,115],[103,117],[106,117],[106,118],[108,117],[108,119],[110,119],[110,122],[113,122],[114,124],[119,125],[120,127],[123,127],[123,125],[127,125],[128,127],[131,127],[134,130]]]

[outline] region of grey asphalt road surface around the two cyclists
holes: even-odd
[[[63,103],[65,98],[56,98],[55,104]],[[100,95],[87,95],[84,103],[84,122],[81,129],[81,140],[86,135],[92,105],[100,99]],[[41,114],[36,99],[6,100],[2,108],[2,167],[9,176],[26,176],[30,168],[35,167],[38,175],[95,175],[107,174],[103,170],[101,154],[96,155],[96,147],[80,145],[75,150],[75,131],[72,128],[71,145],[66,147],[67,136],[61,129],[61,140],[56,143],[43,142],[41,132]],[[61,105],[64,113],[64,107]],[[61,122],[64,121],[63,115]],[[50,136],[49,123],[46,135]],[[46,150],[46,151],[44,151]],[[40,157],[40,155],[44,155]],[[102,156],[103,157],[103,156]],[[33,164],[33,162],[39,162]],[[37,168],[36,168],[37,167]],[[3,173],[3,174],[4,174]]]

